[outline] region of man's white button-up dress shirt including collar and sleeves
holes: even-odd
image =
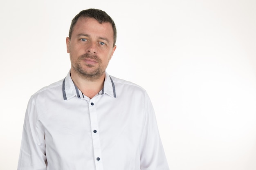
[[[70,72],[31,96],[18,170],[169,170],[146,91],[105,73],[92,99]]]

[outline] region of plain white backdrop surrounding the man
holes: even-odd
[[[171,170],[256,169],[255,0],[1,0],[0,170],[17,168],[29,97],[66,76],[88,8],[115,21],[107,71],[148,91]]]

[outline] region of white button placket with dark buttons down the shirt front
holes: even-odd
[[[95,99],[91,99],[89,102],[94,162],[96,170],[103,170],[96,104]]]

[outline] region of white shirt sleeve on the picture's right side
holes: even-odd
[[[169,170],[159,136],[155,112],[148,95],[145,97],[145,126],[141,137],[141,170]]]

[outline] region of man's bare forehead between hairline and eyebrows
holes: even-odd
[[[72,35],[92,34],[99,36],[111,36],[113,39],[114,31],[110,22],[102,22],[101,24],[94,18],[79,18],[74,25]]]

